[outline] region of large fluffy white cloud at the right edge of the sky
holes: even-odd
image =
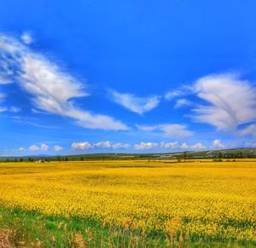
[[[236,131],[240,124],[256,119],[256,89],[235,74],[220,74],[197,80],[197,95],[207,105],[196,108],[195,120],[218,130]]]

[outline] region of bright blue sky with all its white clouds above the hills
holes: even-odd
[[[0,155],[255,147],[255,8],[1,3]]]

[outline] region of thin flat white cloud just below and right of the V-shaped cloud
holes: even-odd
[[[193,132],[187,130],[187,126],[183,124],[157,124],[157,125],[136,125],[138,130],[147,132],[160,131],[167,137],[188,137],[193,136]]]

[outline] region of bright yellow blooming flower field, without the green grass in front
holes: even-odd
[[[256,160],[0,163],[0,182],[10,208],[256,241]]]

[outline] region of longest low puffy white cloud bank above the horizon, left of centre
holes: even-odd
[[[73,142],[71,145],[71,148],[73,150],[87,150],[87,149],[128,149],[130,148],[129,144],[123,144],[123,143],[112,143],[110,141],[100,141],[94,144],[91,144],[88,141],[84,142]]]

